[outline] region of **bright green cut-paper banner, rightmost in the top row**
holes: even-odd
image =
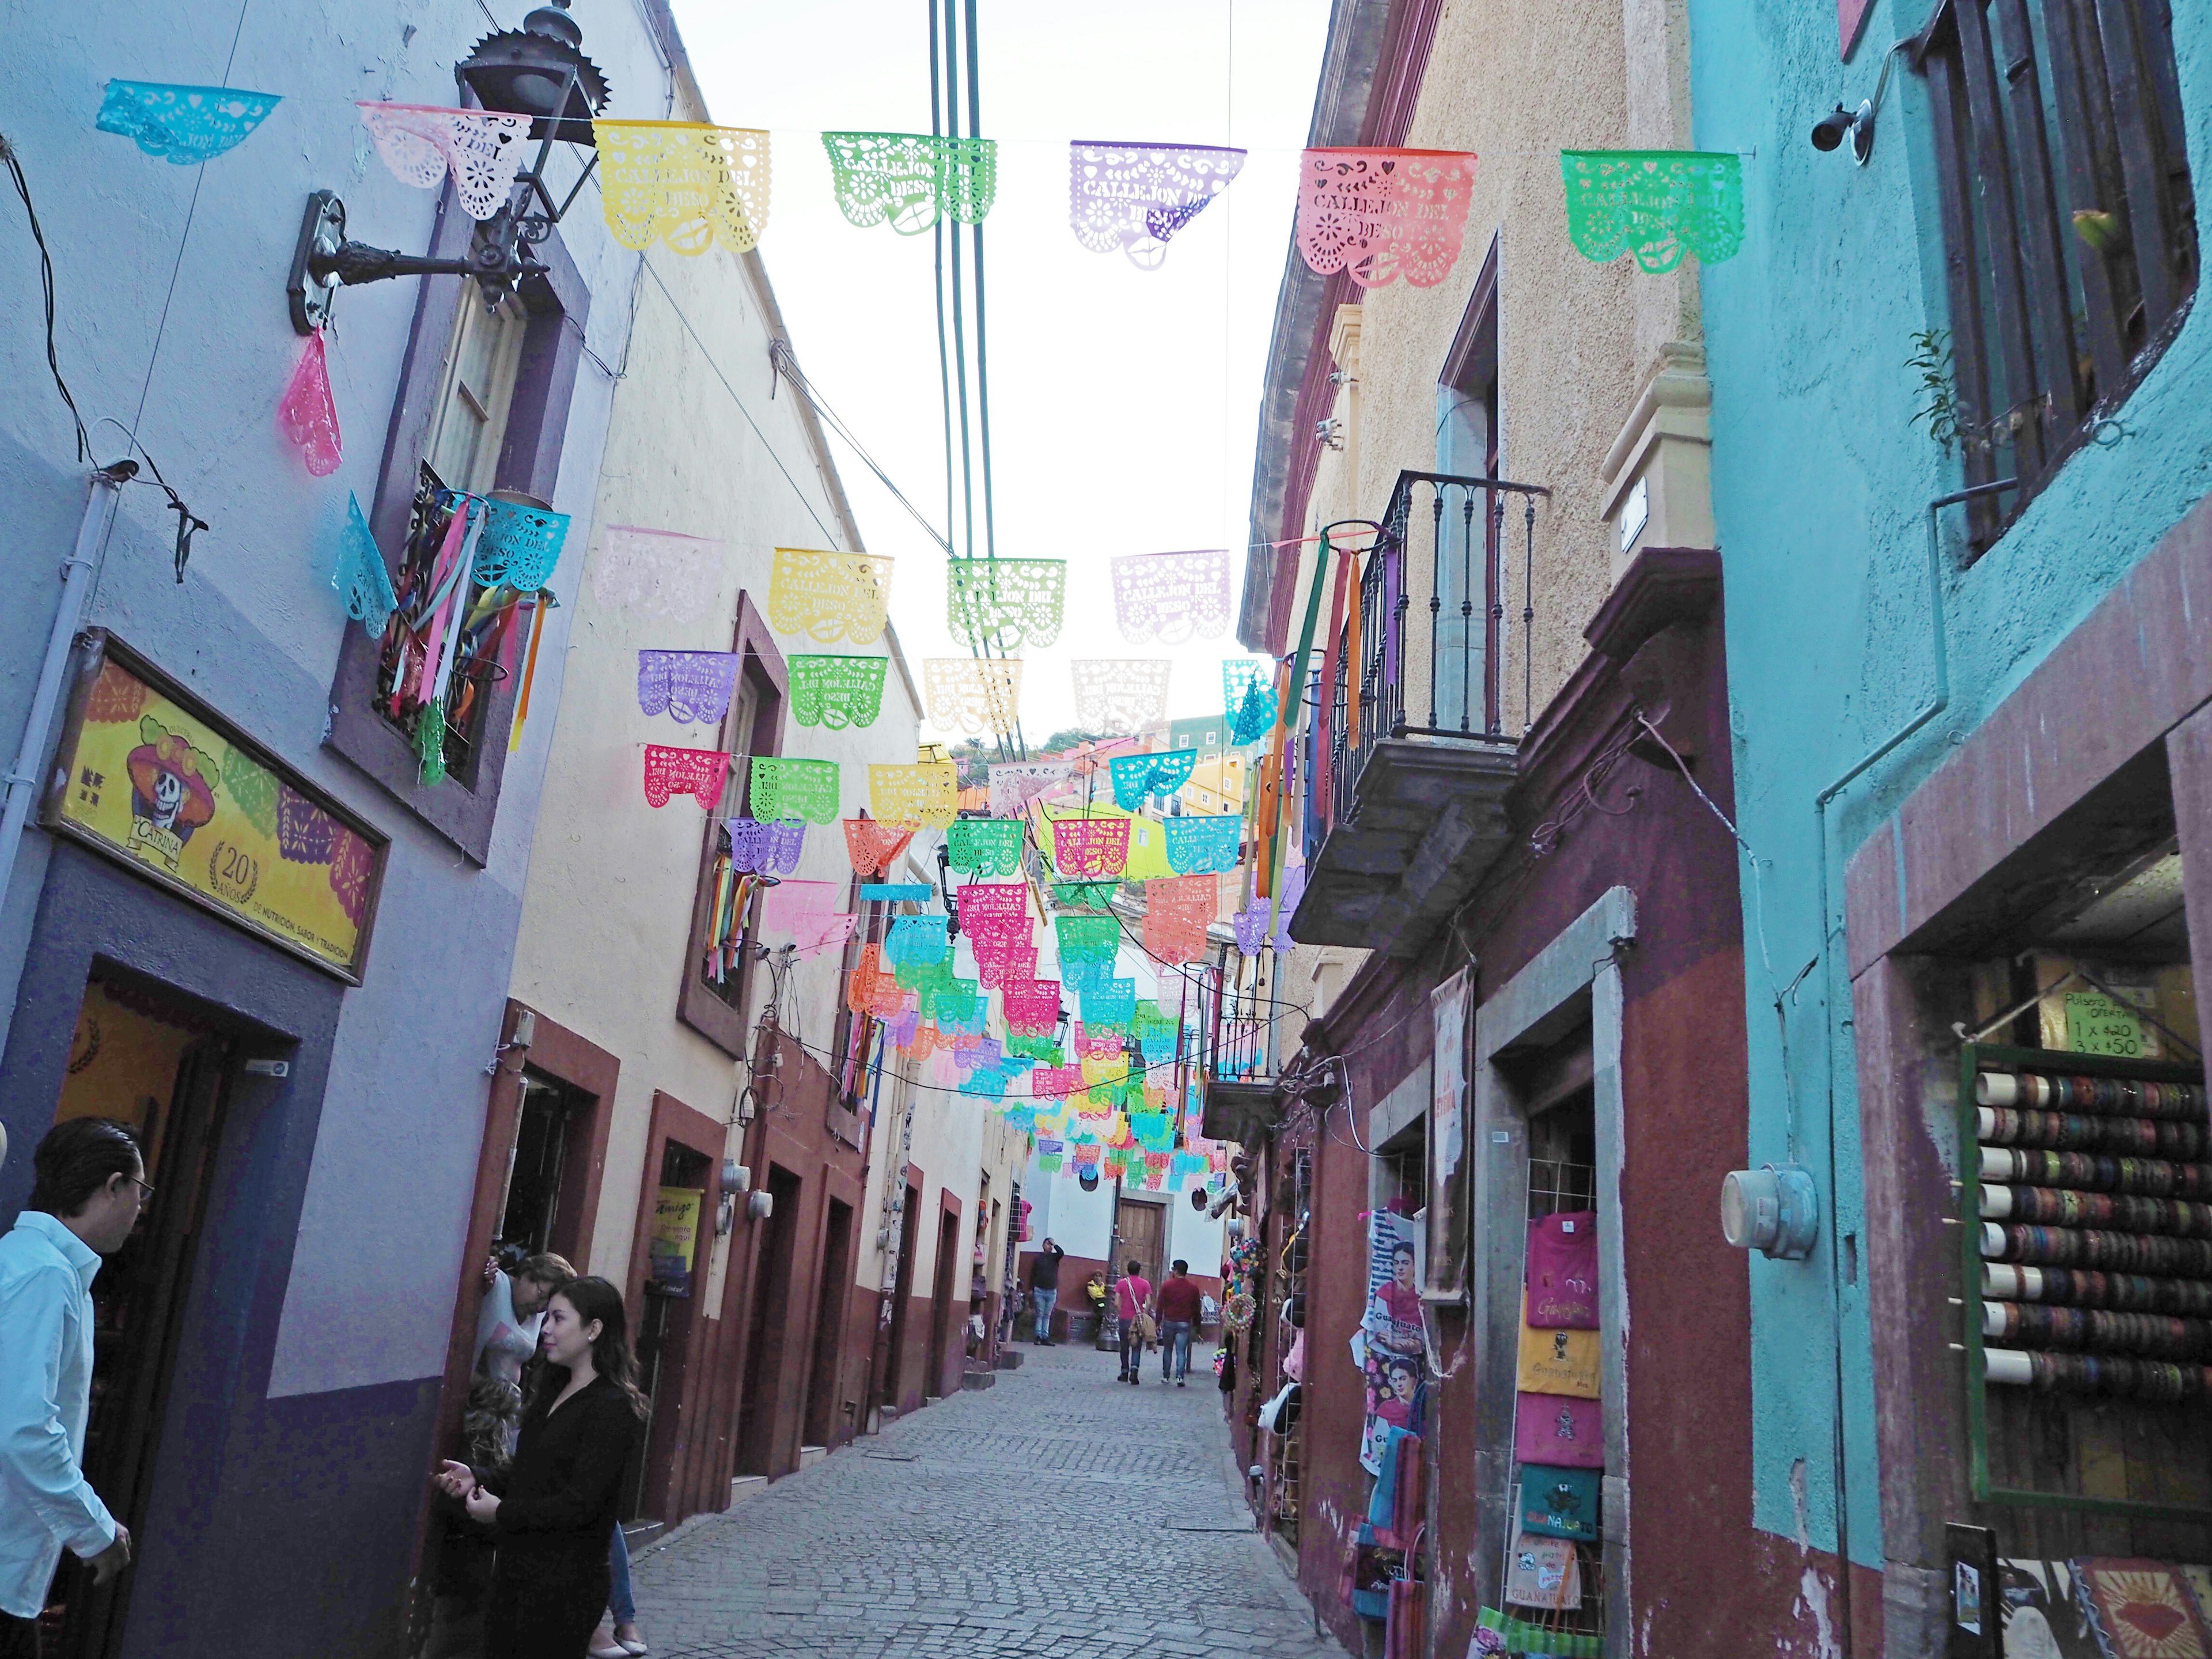
[[[1635,254],[1652,276],[1686,254],[1714,265],[1743,246],[1743,157],[1714,150],[1559,150],[1566,234],[1599,263]]]

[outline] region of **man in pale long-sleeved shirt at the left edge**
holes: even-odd
[[[0,1659],[38,1659],[62,1548],[93,1582],[131,1564],[131,1533],[84,1480],[93,1402],[93,1276],[153,1197],[137,1139],[106,1117],[55,1124],[0,1239]]]

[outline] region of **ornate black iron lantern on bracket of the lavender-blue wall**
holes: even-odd
[[[307,197],[307,212],[292,250],[285,292],[292,327],[314,334],[330,323],[330,307],[345,285],[380,283],[392,276],[473,276],[487,303],[511,294],[524,276],[546,268],[531,248],[553,234],[553,226],[575,204],[584,179],[599,166],[591,117],[606,108],[608,86],[597,64],[582,51],[584,31],[568,15],[568,0],[531,11],[520,29],[500,29],[476,42],[453,77],[476,102],[500,115],[529,115],[538,159],[515,175],[507,206],[476,226],[467,259],[429,259],[394,248],[372,248],[345,234],[345,204],[334,190]],[[591,161],[564,201],[546,190],[553,144],[593,150]]]

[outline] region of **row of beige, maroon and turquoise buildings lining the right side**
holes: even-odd
[[[1482,153],[1292,250],[1239,622],[1217,1371],[1354,1650],[2212,1615],[2212,15],[1820,24],[1332,13],[1316,150]]]

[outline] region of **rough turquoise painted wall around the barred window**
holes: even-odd
[[[1920,31],[1927,15],[1927,0],[1876,0],[1856,53],[1838,62],[1832,7],[1690,0],[1697,144],[1745,153],[1743,250],[1701,279],[1736,805],[1756,852],[1756,872],[1750,860],[1743,869],[1750,1152],[1752,1164],[1794,1155],[1816,1170],[1823,1203],[1854,1245],[1865,1230],[1845,860],[2212,489],[2212,307],[2199,303],[2119,411],[2126,436],[2066,462],[1966,571],[1960,513],[1944,513],[1951,701],[1829,810],[1832,945],[1823,953],[1814,799],[1933,695],[1927,502],[1958,489],[1960,473],[1911,425],[1920,403],[1907,367],[1911,334],[1947,323],[1922,82],[1900,58],[1865,168],[1847,148],[1814,150],[1807,133],[1838,100],[1856,106],[1871,95],[1887,46]],[[2174,40],[2203,190],[2212,184],[2212,0],[2174,0]],[[1778,1022],[1776,991],[1807,964]],[[1876,1566],[1865,1274],[1838,1287],[1827,1237],[1805,1263],[1754,1254],[1747,1270],[1756,1524],[1836,1548],[1840,1307],[1849,1553]]]

